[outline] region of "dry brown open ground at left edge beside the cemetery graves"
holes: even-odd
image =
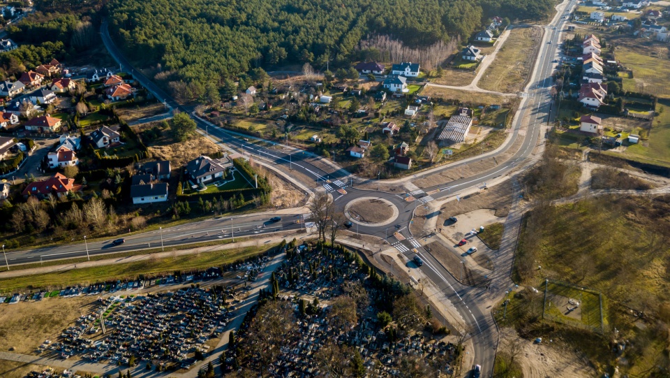
[[[32,354],[44,340],[56,340],[61,331],[94,308],[95,297],[45,298],[0,307],[0,350]],[[1,374],[1,377],[6,377]]]

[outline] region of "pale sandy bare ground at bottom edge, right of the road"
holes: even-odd
[[[516,357],[524,377],[579,378],[595,377],[596,372],[586,362],[586,358],[578,356],[567,348],[542,340],[542,344],[521,339],[512,328],[500,330],[500,348],[503,353],[513,340],[523,345],[521,353]]]

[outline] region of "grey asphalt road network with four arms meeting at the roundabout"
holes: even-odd
[[[572,9],[575,5],[575,0],[572,0],[568,3],[567,9]],[[565,13],[565,10],[563,11]],[[399,208],[399,217],[394,221],[394,224],[385,226],[385,227],[375,227],[369,226],[366,224],[359,224],[359,231],[361,233],[377,235],[382,238],[385,238],[387,233],[392,233],[396,231],[394,225],[398,225],[401,233],[405,235],[405,240],[401,242],[394,242],[396,248],[400,252],[412,258],[415,255],[415,252],[412,249],[416,249],[416,254],[422,257],[424,260],[424,266],[420,269],[424,274],[428,275],[436,285],[444,291],[449,300],[454,304],[456,309],[459,311],[463,319],[468,322],[468,327],[470,328],[470,337],[472,337],[475,345],[475,363],[482,365],[482,377],[490,377],[493,372],[493,359],[495,357],[496,346],[497,346],[497,331],[493,325],[493,319],[491,318],[490,309],[482,308],[483,303],[486,303],[485,298],[488,296],[486,289],[472,288],[470,286],[464,286],[459,284],[459,282],[452,277],[447,270],[442,268],[435,259],[426,252],[425,249],[421,247],[419,242],[412,238],[412,235],[408,233],[407,226],[412,217],[412,210],[417,206],[422,205],[426,201],[432,201],[433,199],[445,198],[447,196],[453,196],[459,191],[463,191],[472,187],[481,187],[485,182],[492,180],[500,175],[505,175],[510,170],[516,168],[517,166],[525,163],[533,152],[534,147],[542,140],[541,126],[545,122],[548,122],[551,119],[551,108],[552,100],[550,95],[550,89],[553,85],[551,80],[551,73],[556,68],[556,64],[553,63],[553,60],[558,57],[558,43],[560,30],[563,29],[567,20],[563,18],[562,15],[558,15],[556,19],[546,28],[546,40],[541,46],[539,52],[539,60],[537,65],[534,68],[535,71],[535,82],[531,85],[531,89],[528,91],[525,99],[523,99],[519,112],[520,116],[517,117],[516,122],[513,127],[513,136],[512,140],[503,148],[502,150],[496,152],[500,154],[505,150],[509,149],[516,138],[520,136],[523,137],[523,143],[521,148],[517,150],[514,155],[500,163],[495,168],[491,168],[485,172],[479,173],[471,177],[464,177],[460,180],[454,180],[452,182],[445,182],[444,184],[436,185],[431,188],[424,188],[424,193],[417,193],[415,196],[419,198],[419,201],[413,203],[408,203],[404,201],[403,196],[397,194],[387,194],[380,191],[368,191],[361,190],[352,187],[348,187],[347,183],[350,175],[345,170],[335,170],[333,169],[330,172],[322,170],[316,166],[313,166],[307,159],[311,159],[313,155],[306,152],[297,152],[297,153],[286,153],[274,148],[262,147],[249,143],[246,139],[253,139],[251,137],[238,136],[235,133],[219,129],[218,127],[205,122],[198,117],[194,117],[198,126],[207,131],[207,133],[216,136],[223,140],[224,143],[227,143],[231,147],[237,148],[237,150],[242,150],[248,154],[252,154],[256,157],[265,159],[265,161],[277,165],[282,164],[284,166],[290,165],[293,170],[299,171],[304,176],[309,177],[310,182],[303,182],[308,187],[323,187],[327,191],[331,192],[334,195],[334,200],[339,208],[343,209],[345,203],[352,201],[355,198],[361,196],[378,196],[380,198],[385,198],[387,201],[394,203]],[[553,29],[556,27],[556,29]],[[107,47],[107,50],[110,51],[112,57],[126,67],[132,67],[130,62],[128,62],[123,55],[117,50],[117,48],[112,43],[109,34],[107,33],[107,24],[103,23],[101,27],[103,43]],[[551,41],[547,43],[546,41]],[[147,87],[149,91],[153,92],[154,95],[160,100],[168,103],[169,106],[175,109],[179,109],[182,112],[188,112],[192,114],[192,109],[180,106],[173,99],[165,94],[160,88],[154,85],[153,82],[144,78],[144,76],[131,68],[131,74],[140,82],[141,85]],[[524,126],[524,122],[528,122],[528,130],[526,133],[520,133],[521,126]],[[267,142],[271,143],[271,142]],[[274,144],[274,143],[273,143]],[[491,157],[491,155],[486,155],[479,157],[478,159],[486,159]],[[468,163],[472,163],[475,160],[469,160],[456,166],[464,166]],[[453,167],[453,166],[452,166]],[[450,167],[451,168],[451,167]],[[447,169],[447,168],[445,168]],[[434,173],[433,173],[434,174]],[[418,175],[417,177],[421,177]],[[326,182],[324,182],[326,180]],[[336,189],[344,189],[346,194],[338,194]],[[426,191],[439,190],[435,194],[428,196],[425,194]],[[283,217],[281,224],[276,225],[266,225],[265,228],[262,228],[262,224],[267,219],[246,219],[239,220],[235,218],[233,221],[236,224],[235,230],[239,228],[241,231],[235,231],[235,235],[253,235],[254,232],[268,232],[266,230],[273,229],[272,227],[277,227],[277,231],[283,230],[292,230],[297,229],[302,226],[302,224],[295,223],[298,219],[301,219],[301,215],[293,215],[292,217]],[[353,220],[353,219],[352,219]],[[354,220],[355,221],[355,220]],[[202,240],[214,240],[217,238],[227,237],[225,227],[227,222],[230,223],[230,219],[214,219],[211,224],[208,223],[207,226],[202,226],[202,224],[194,224],[188,226],[178,226],[175,228],[168,228],[163,230],[163,243],[164,245],[178,245],[184,242],[193,242],[193,241],[202,241]],[[194,228],[195,227],[195,228]],[[230,231],[230,226],[228,226]],[[390,229],[389,229],[390,228]],[[169,235],[168,235],[169,230]],[[218,230],[218,231],[217,231]],[[222,231],[223,230],[223,231]],[[208,234],[209,232],[209,234]],[[105,253],[105,252],[120,252],[126,250],[138,249],[145,247],[151,243],[152,247],[158,246],[160,243],[160,232],[151,231],[150,233],[144,233],[140,235],[134,235],[126,238],[126,243],[117,247],[108,247],[111,240],[105,242],[95,242],[89,244],[89,254],[92,253]],[[168,244],[170,243],[170,244]],[[37,261],[39,256],[45,255],[52,259],[58,259],[63,257],[73,257],[73,256],[85,256],[86,251],[82,244],[70,245],[70,246],[60,246],[53,247],[50,249],[37,249],[33,251],[24,251],[24,252],[13,252],[8,254],[10,259],[13,259],[13,263],[20,263],[26,261]]]

